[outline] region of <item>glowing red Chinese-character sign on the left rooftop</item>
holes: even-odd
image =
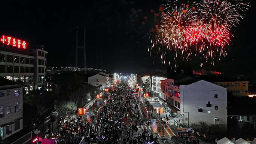
[[[20,39],[16,39],[14,37],[11,36],[4,36],[2,35],[1,38],[1,43],[3,43],[4,45],[7,46],[12,46],[12,47],[16,47],[16,48],[22,48],[22,49],[26,49],[27,48],[27,42],[24,40],[20,40]]]

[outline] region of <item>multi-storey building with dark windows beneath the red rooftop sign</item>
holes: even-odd
[[[21,49],[1,42],[0,76],[24,85],[25,93],[45,89],[46,57],[43,46]]]

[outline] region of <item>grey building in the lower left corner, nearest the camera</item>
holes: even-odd
[[[31,131],[22,130],[23,87],[4,77],[0,82],[0,143],[10,139],[12,144],[19,139],[19,144],[24,144],[31,139]]]

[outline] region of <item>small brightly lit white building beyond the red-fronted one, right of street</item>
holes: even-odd
[[[161,90],[161,80],[165,80],[165,77],[158,77],[158,76],[153,76],[152,77],[152,90],[156,93],[156,96],[159,98],[164,97],[162,94]]]

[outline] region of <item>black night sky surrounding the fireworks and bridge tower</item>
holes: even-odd
[[[161,0],[72,2],[2,3],[0,33],[27,40],[29,45],[44,45],[48,51],[47,65],[61,67],[75,65],[76,27],[81,44],[86,27],[88,67],[128,73],[167,67],[161,64],[159,55],[152,58],[146,51],[150,43],[147,36],[154,27],[150,10],[158,12]],[[252,4],[235,28],[227,58],[205,69],[238,73],[255,70],[255,8]],[[83,49],[79,50],[78,64],[83,65]]]

